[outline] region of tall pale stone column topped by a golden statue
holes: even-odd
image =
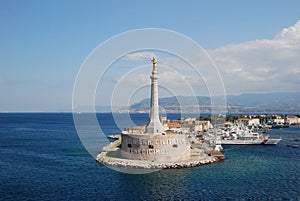
[[[151,78],[151,105],[150,105],[150,121],[146,127],[146,133],[156,134],[163,132],[163,125],[159,120],[159,106],[158,106],[158,76],[157,76],[157,60],[153,57],[151,59],[153,64]]]

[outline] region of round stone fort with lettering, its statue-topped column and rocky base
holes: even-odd
[[[192,133],[164,127],[159,117],[157,60],[151,61],[149,123],[125,129],[119,140],[103,148],[97,161],[109,166],[181,168],[223,160],[222,153],[198,142]]]

